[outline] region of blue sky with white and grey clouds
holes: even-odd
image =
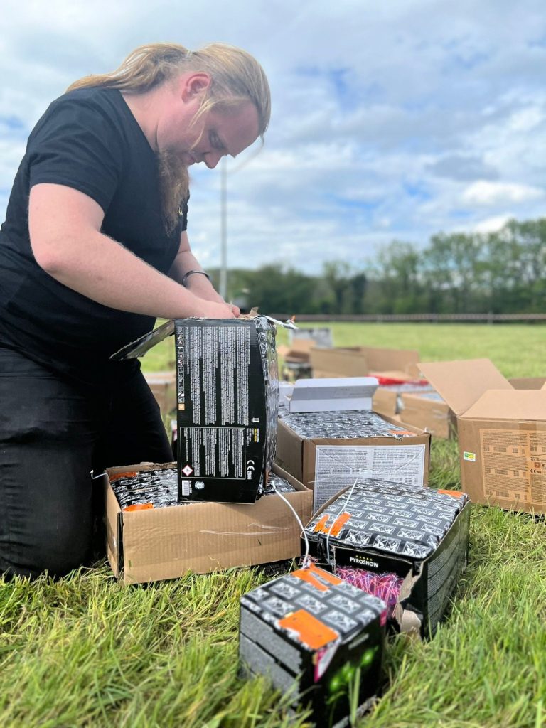
[[[0,218],[26,138],[138,45],[223,41],[264,66],[265,144],[227,165],[230,268],[357,272],[393,240],[546,209],[544,0],[0,0]],[[199,167],[202,167],[200,169]],[[221,261],[220,167],[191,167],[189,239]]]

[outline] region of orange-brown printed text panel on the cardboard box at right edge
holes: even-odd
[[[480,444],[486,498],[546,506],[546,431],[480,430]]]

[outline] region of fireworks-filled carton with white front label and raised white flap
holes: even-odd
[[[338,382],[329,396],[329,381]],[[314,492],[318,510],[356,476],[397,480],[408,486],[428,481],[430,433],[371,411],[373,377],[296,382],[277,431],[277,463]],[[342,383],[364,382],[354,388]],[[325,384],[324,384],[325,383]],[[290,411],[301,385],[298,411]],[[365,391],[361,391],[364,389]],[[304,397],[305,394],[305,397]],[[321,411],[317,410],[320,403]],[[303,411],[308,404],[308,411]]]

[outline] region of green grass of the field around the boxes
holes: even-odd
[[[336,344],[491,357],[541,376],[535,326],[335,325]],[[166,368],[172,340],[144,360]],[[523,352],[523,353],[522,353]],[[432,446],[432,485],[459,486],[456,446]],[[304,728],[266,681],[237,677],[238,600],[270,577],[232,569],[125,587],[105,564],[52,582],[0,579],[0,725]],[[546,526],[472,506],[470,561],[432,641],[391,639],[368,728],[546,726]]]

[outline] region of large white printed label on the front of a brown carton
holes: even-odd
[[[424,445],[318,445],[314,459],[313,511],[317,511],[357,478],[379,478],[422,486]]]

